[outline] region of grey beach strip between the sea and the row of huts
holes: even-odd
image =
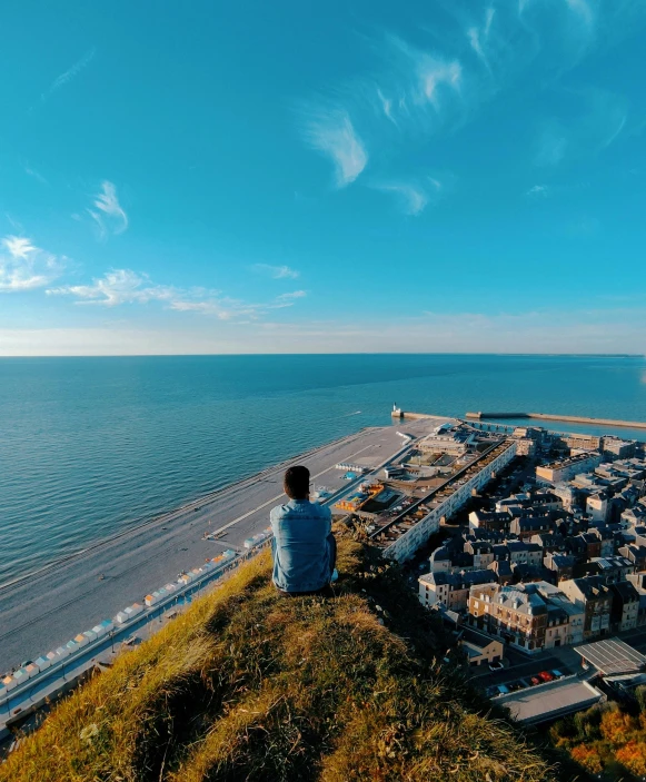
[[[445,419],[443,419],[445,420]],[[269,509],[285,495],[282,473],[304,462],[317,485],[344,484],[339,462],[377,465],[404,445],[397,430],[423,435],[437,420],[406,422],[364,429],[322,446],[156,519],[139,524],[86,552],[0,587],[0,672],[67,643],[103,618],[222,551],[240,550],[245,538],[269,524]],[[205,541],[205,532],[222,532]]]

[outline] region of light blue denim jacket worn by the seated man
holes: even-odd
[[[270,519],[276,586],[285,592],[310,592],[329,584],[329,507],[309,499],[290,499],[272,508]]]

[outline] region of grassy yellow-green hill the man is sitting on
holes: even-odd
[[[268,553],[245,565],[59,704],[0,781],[559,779],[437,662],[396,565],[348,540],[338,565],[328,600],[279,596]]]

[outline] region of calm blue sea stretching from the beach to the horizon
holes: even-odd
[[[440,415],[495,409],[646,420],[646,360],[2,358],[0,583],[302,451],[389,424],[394,403]],[[617,434],[646,439],[644,430]]]

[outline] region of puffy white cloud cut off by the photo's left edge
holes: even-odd
[[[42,288],[64,268],[64,257],[40,249],[31,239],[6,236],[0,244],[0,293]]]

